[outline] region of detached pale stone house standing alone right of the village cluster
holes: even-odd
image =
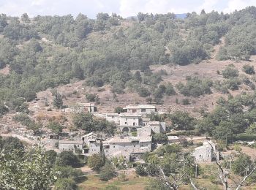
[[[219,151],[214,142],[206,141],[202,146],[195,148],[194,156],[195,161],[214,161],[219,160]]]

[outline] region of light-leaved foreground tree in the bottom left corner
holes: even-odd
[[[1,189],[50,189],[56,174],[50,168],[45,151],[32,148],[20,157],[18,150],[0,153]]]

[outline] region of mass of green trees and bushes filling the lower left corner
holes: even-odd
[[[17,138],[0,137],[1,189],[78,189],[85,179],[78,167],[84,163],[72,151],[45,151],[25,148]],[[72,187],[72,188],[71,188]]]

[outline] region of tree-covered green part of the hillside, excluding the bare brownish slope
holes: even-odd
[[[224,45],[217,45],[224,39]],[[214,50],[216,52],[214,52]],[[151,65],[199,64],[216,55],[217,60],[250,61],[256,53],[256,8],[232,14],[138,13],[138,20],[99,13],[96,20],[78,15],[0,17],[1,114],[26,110],[37,92],[85,80],[97,88],[109,84],[113,94],[135,92],[148,102],[162,104],[164,96],[204,96],[212,89],[235,91],[241,83],[236,68],[219,71],[224,80],[187,76],[187,83],[165,83],[165,70],[152,72]],[[209,62],[209,64],[218,64]],[[206,64],[204,64],[206,65]],[[253,66],[244,71],[253,74]],[[186,77],[186,76],[184,76]],[[244,80],[246,80],[244,82]],[[160,84],[161,83],[161,84]],[[183,104],[189,104],[184,99]],[[5,104],[5,105],[4,105]],[[7,106],[7,107],[6,107]]]

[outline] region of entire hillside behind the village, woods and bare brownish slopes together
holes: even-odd
[[[29,110],[33,118],[60,115],[56,94],[65,107],[89,102],[91,94],[99,113],[140,103],[201,118],[219,97],[254,91],[252,18],[255,7],[231,14],[192,12],[184,20],[141,12],[138,20],[105,13],[97,20],[2,14],[1,123]]]

